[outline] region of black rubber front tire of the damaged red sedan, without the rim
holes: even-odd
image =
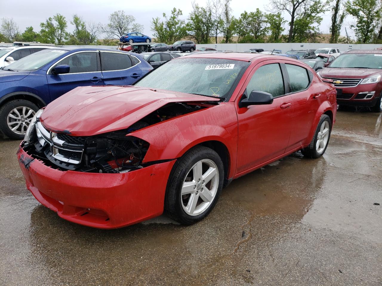
[[[196,162],[199,162],[202,159],[209,159],[217,166],[217,169],[219,170],[219,185],[214,200],[210,203],[207,209],[199,215],[189,215],[182,207],[183,202],[181,200],[181,187],[188,171],[194,164],[196,164]],[[197,146],[196,148],[189,150],[176,161],[170,177],[168,178],[167,190],[165,194],[165,210],[167,210],[168,215],[172,219],[180,222],[181,224],[191,225],[196,223],[199,220],[204,219],[214,208],[217,200],[219,199],[220,192],[222,191],[223,181],[224,168],[220,156],[210,148]]]

